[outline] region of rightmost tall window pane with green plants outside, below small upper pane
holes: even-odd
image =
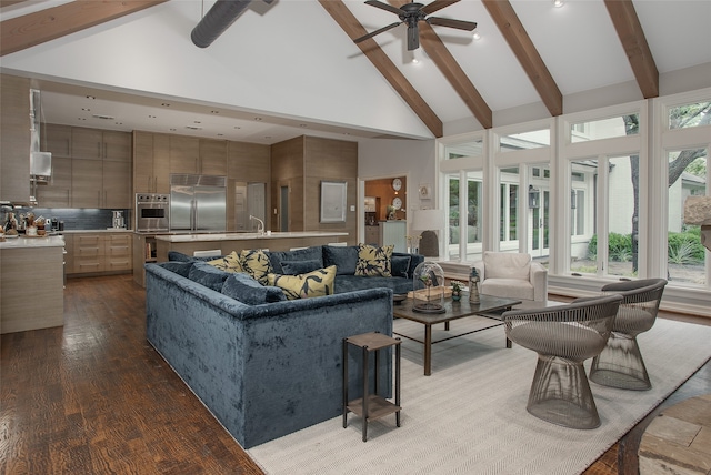
[[[701,228],[683,222],[684,200],[707,194],[707,149],[669,153],[668,273],[674,283],[707,283]]]

